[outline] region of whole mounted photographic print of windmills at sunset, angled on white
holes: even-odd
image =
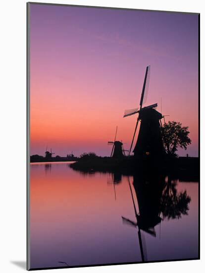
[[[200,14],[27,3],[27,269],[199,259]]]

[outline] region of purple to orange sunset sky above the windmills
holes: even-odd
[[[198,15],[30,5],[31,154],[109,155],[117,139],[129,149],[145,70],[146,105],[189,126],[198,156]],[[136,137],[137,139],[137,137]],[[134,143],[135,144],[135,143]]]

